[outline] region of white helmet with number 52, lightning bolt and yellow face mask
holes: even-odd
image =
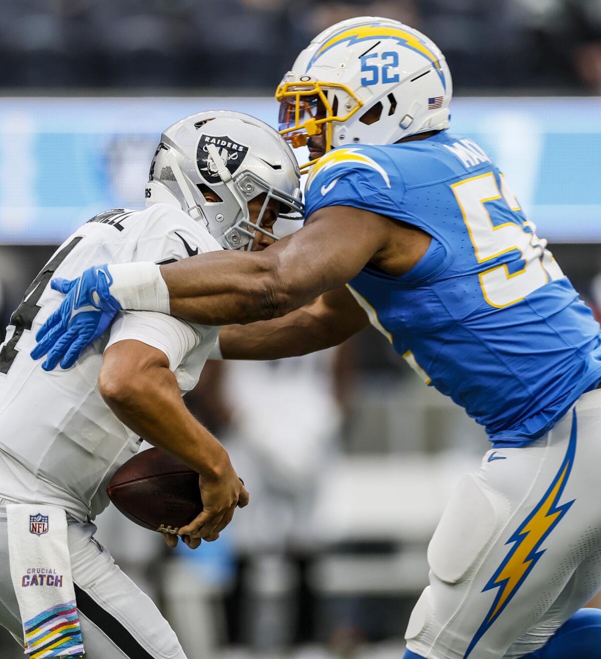
[[[452,95],[445,57],[424,34],[390,18],[351,18],[315,37],[284,76],[280,134],[296,148],[325,130],[326,151],[393,144],[448,128]]]

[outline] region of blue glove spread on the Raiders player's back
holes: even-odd
[[[51,288],[66,295],[61,306],[49,316],[36,334],[34,359],[47,355],[42,368],[53,370],[75,364],[82,350],[104,334],[121,304],[111,295],[113,277],[106,264],[88,268],[77,279],[56,277]]]

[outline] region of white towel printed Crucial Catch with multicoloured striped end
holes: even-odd
[[[11,503],[7,521],[25,654],[33,659],[82,656],[67,514],[53,505]]]

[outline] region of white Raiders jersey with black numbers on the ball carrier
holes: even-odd
[[[11,316],[0,347],[1,498],[50,503],[80,521],[93,519],[108,505],[112,474],[140,444],[98,392],[104,350],[125,339],[162,350],[185,393],[197,384],[219,333],[164,314],[121,312],[75,366],[46,372],[30,351],[63,301],[50,280],[73,279],[97,264],[164,264],[220,249],[205,227],[169,204],[97,215],[59,247]]]

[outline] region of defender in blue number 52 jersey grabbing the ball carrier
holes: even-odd
[[[261,252],[59,283],[35,354],[68,367],[119,308],[230,325],[222,355],[239,359],[324,349],[371,322],[492,442],[433,535],[406,657],[601,657],[600,612],[581,610],[601,587],[600,328],[502,173],[447,131],[451,92],[420,32],[329,28],[277,92],[280,129],[313,158],[305,226]]]

